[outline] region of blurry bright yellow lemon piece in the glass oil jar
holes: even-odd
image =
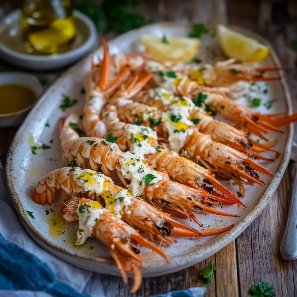
[[[43,53],[55,53],[59,46],[66,44],[75,36],[75,25],[72,18],[54,20],[48,29],[31,33],[29,42]]]

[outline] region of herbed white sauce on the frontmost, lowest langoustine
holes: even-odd
[[[78,204],[76,212],[79,217],[79,227],[75,245],[83,244],[88,237],[92,236],[93,227],[104,211],[107,210],[102,208],[101,204],[97,201]]]

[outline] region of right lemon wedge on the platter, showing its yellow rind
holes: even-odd
[[[269,53],[266,45],[223,25],[217,26],[217,37],[223,52],[230,58],[252,63],[262,61]]]

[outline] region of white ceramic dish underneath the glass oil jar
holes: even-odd
[[[97,42],[93,21],[83,13],[74,11],[77,32],[69,52],[47,56],[28,55],[21,41],[20,15],[20,10],[14,10],[0,22],[0,56],[17,66],[33,70],[62,68],[81,59]]]

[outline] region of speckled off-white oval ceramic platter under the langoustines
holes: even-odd
[[[258,39],[260,42],[266,43],[270,47],[270,54],[260,66],[281,66],[274,50],[266,40],[251,32],[236,29]],[[189,27],[185,24],[157,23],[145,26],[110,41],[110,52],[117,54],[142,50],[138,42],[142,34],[159,37],[163,35],[184,37],[188,35],[188,32]],[[225,59],[215,37],[211,37],[210,34],[205,35],[202,44],[199,58],[203,61],[214,62]],[[102,49],[97,50],[95,54],[101,56]],[[118,275],[118,270],[108,249],[95,238],[89,238],[79,248],[74,246],[76,240],[75,231],[78,225],[63,221],[59,214],[61,206],[41,206],[31,200],[32,190],[40,178],[49,171],[61,167],[59,118],[66,116],[70,112],[82,113],[84,95],[81,94],[81,89],[83,88],[84,75],[89,71],[90,65],[91,56],[70,68],[50,87],[33,108],[16,133],[10,147],[6,165],[7,184],[15,208],[26,230],[44,249],[81,268]],[[280,72],[280,76],[281,80],[251,86],[252,96],[262,99],[260,107],[257,108],[258,111],[262,113],[291,113],[290,94],[282,72]],[[78,103],[63,112],[59,108],[63,96],[69,96],[71,100],[77,99]],[[269,100],[273,100],[270,108],[267,107],[268,103],[271,102]],[[240,102],[248,104],[247,98],[241,98]],[[261,162],[262,165],[274,173],[272,179],[263,176],[266,187],[260,185],[246,186],[246,195],[242,200],[247,208],[238,207],[237,205],[223,208],[226,212],[239,215],[239,218],[220,217],[212,214],[198,215],[205,228],[218,228],[234,223],[233,229],[216,237],[176,238],[177,243],[165,249],[165,252],[171,258],[169,265],[154,253],[143,250],[142,255],[145,260],[142,268],[143,276],[151,277],[167,274],[198,263],[225,247],[243,232],[260,214],[277,189],[290,159],[292,129],[291,126],[284,127],[283,134],[271,133],[269,135],[269,138],[278,140],[275,149],[281,153],[281,156],[276,162]],[[35,151],[37,154],[32,154],[31,146],[42,146],[42,144],[45,144],[47,149],[40,149]],[[233,192],[238,191],[236,186],[233,186],[230,182],[225,184]],[[193,222],[185,223],[198,227]]]

